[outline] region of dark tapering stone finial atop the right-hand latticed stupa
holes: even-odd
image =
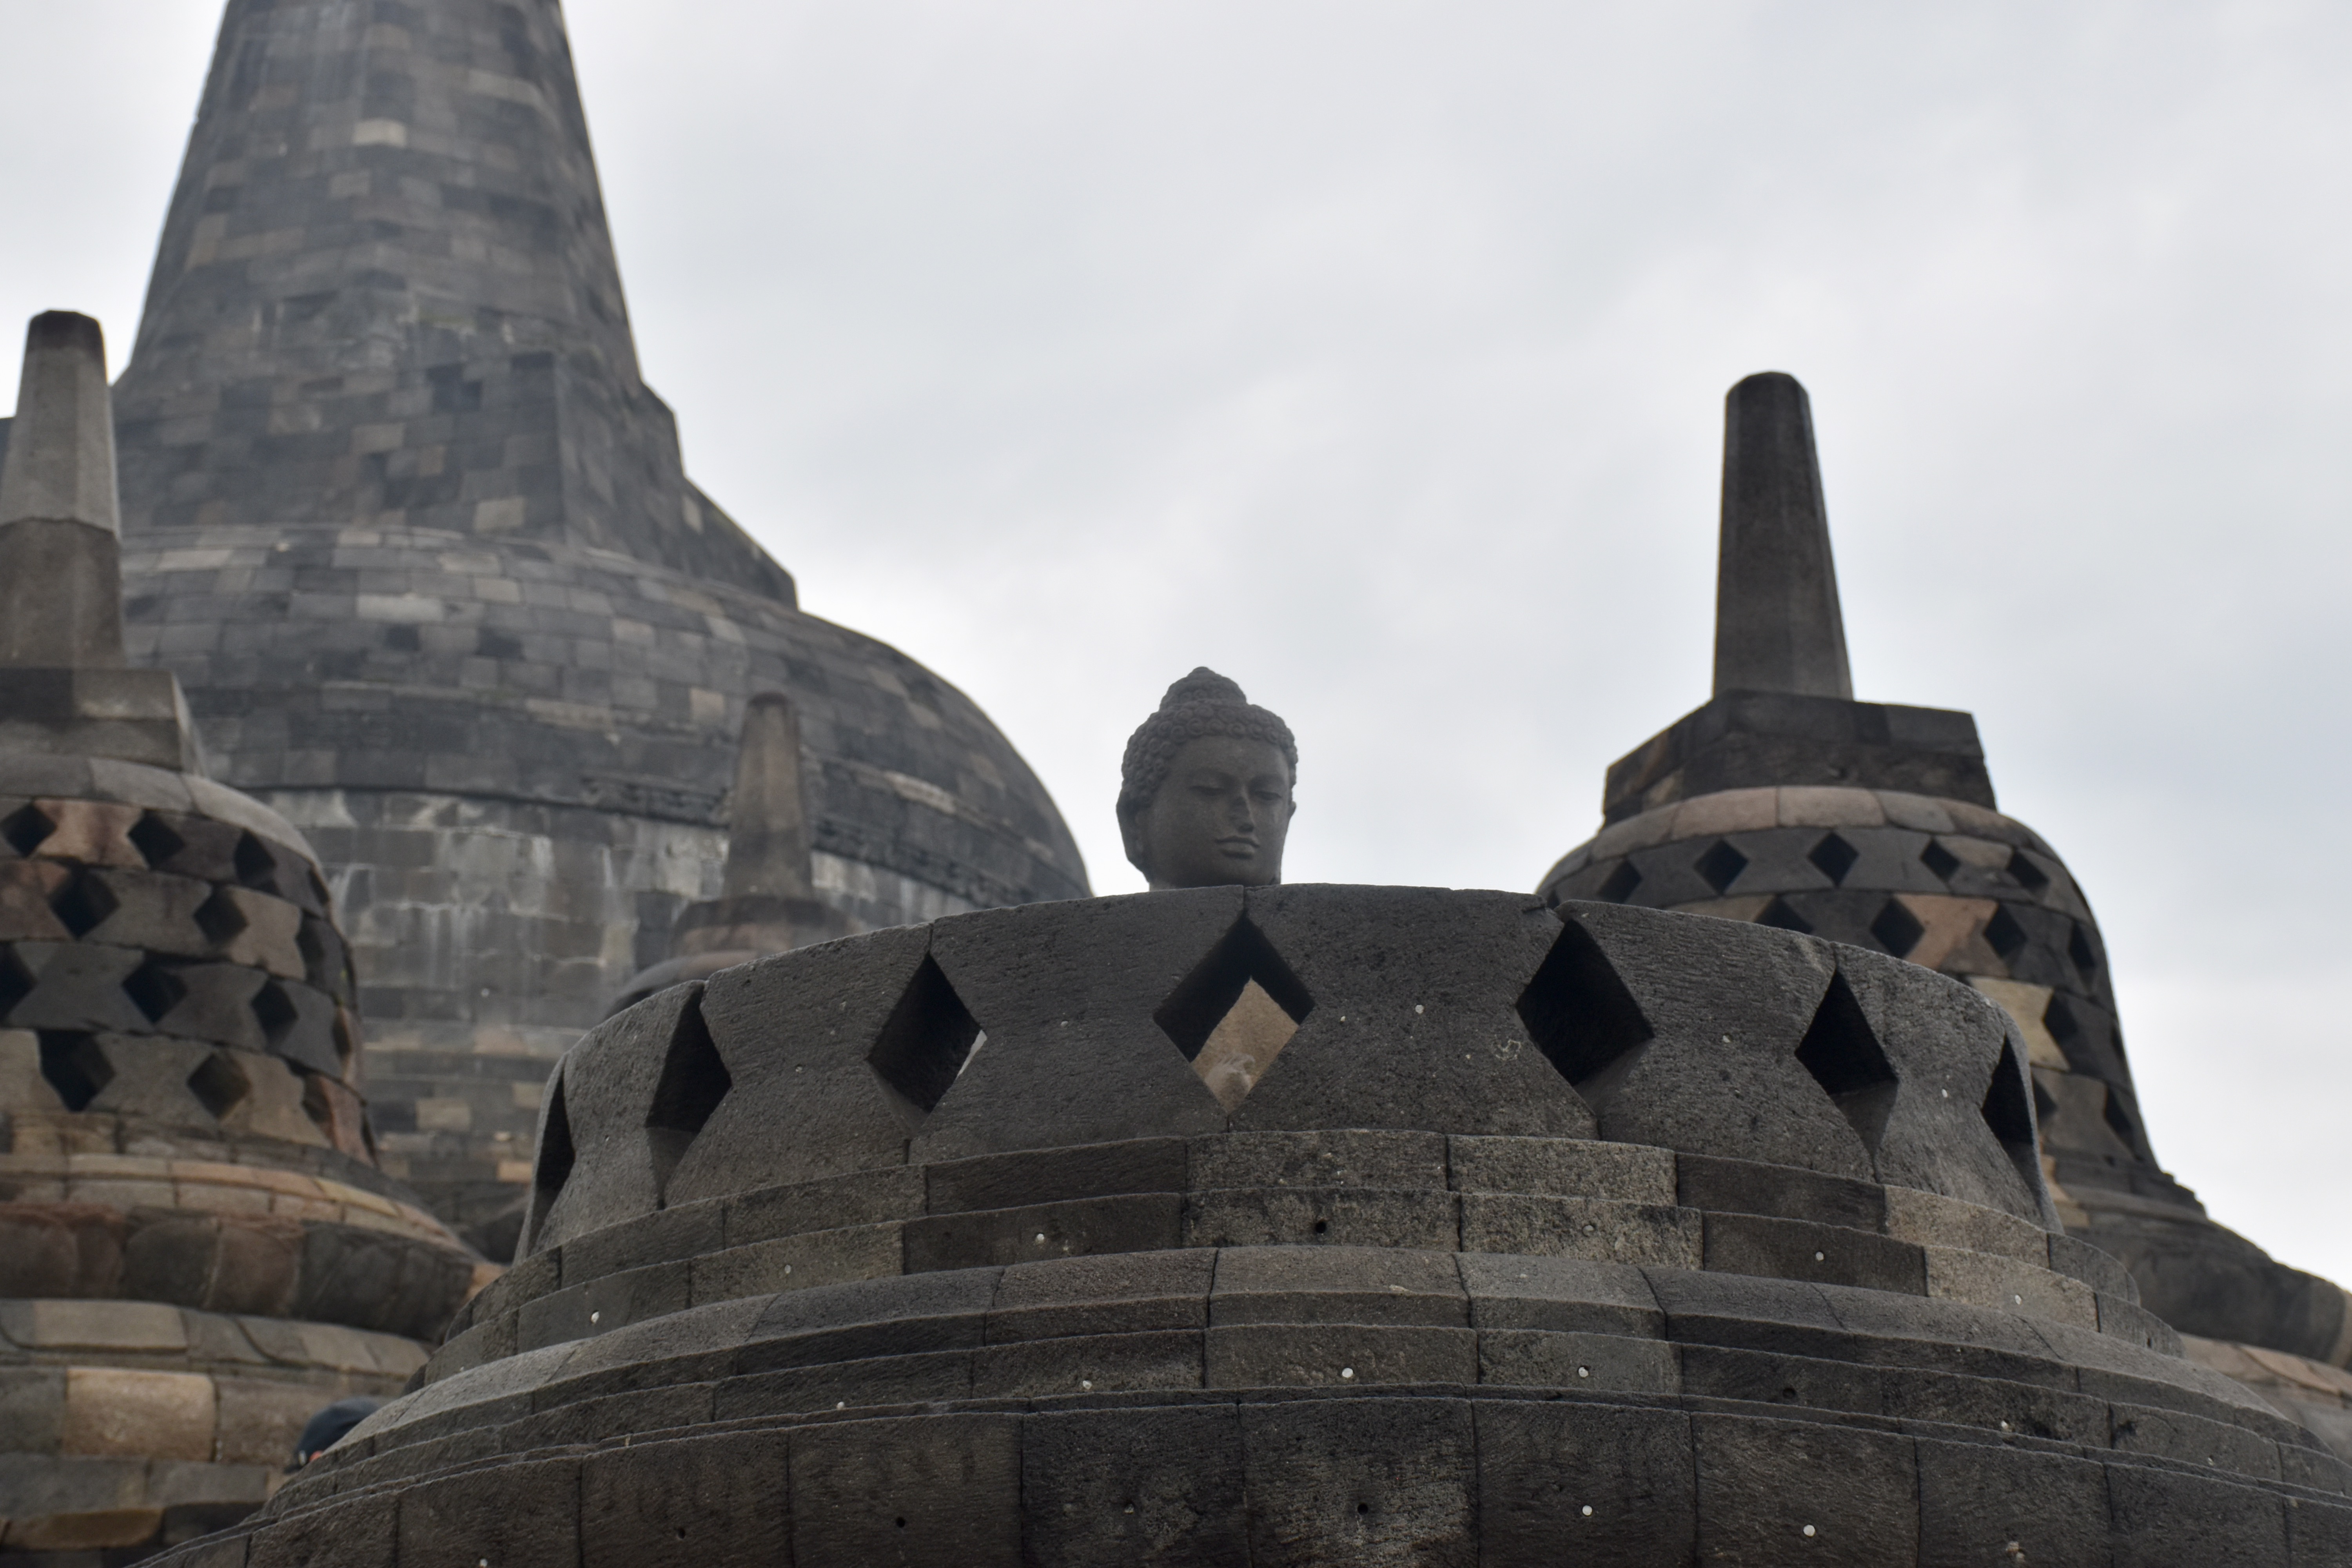
[[[1715,693],[1726,691],[1853,698],[1813,404],[1780,371],[1748,376],[1724,397]]]

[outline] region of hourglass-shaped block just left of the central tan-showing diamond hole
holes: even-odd
[[[931,957],[985,1044],[922,1124],[917,1154],[1223,1126],[1223,1110],[1155,1013],[1240,917],[1240,889],[1192,889],[990,910],[936,926]]]

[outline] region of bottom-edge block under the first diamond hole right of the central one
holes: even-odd
[[[1693,1542],[1682,1410],[1479,1401],[1479,1544],[1489,1563],[1684,1568]]]

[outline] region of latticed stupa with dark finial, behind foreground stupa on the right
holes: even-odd
[[[2122,1258],[2194,1349],[2352,1455],[2345,1293],[2206,1218],[2154,1159],[2098,919],[2058,853],[2002,816],[1976,719],[1856,703],[1804,388],[1731,388],[1715,696],[1611,764],[1602,832],[1550,900],[1722,914],[1940,969],[2032,1056],[2058,1215]]]

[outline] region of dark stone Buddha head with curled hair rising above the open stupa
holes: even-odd
[[[1298,802],[1291,726],[1216,670],[1160,698],[1120,762],[1120,839],[1160,889],[1272,886]]]

